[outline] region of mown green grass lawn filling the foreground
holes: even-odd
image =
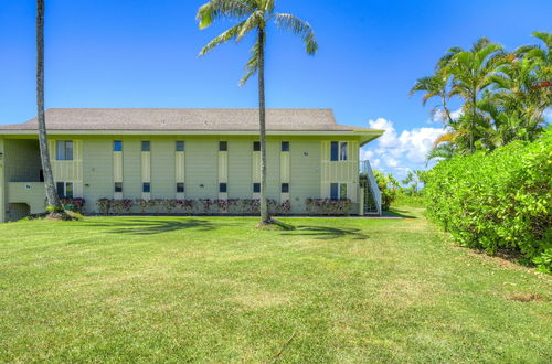
[[[0,225],[0,361],[550,363],[551,277],[402,214]]]

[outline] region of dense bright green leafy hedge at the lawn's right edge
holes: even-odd
[[[550,270],[544,256],[552,248],[550,131],[531,143],[444,161],[429,172],[424,194],[428,217],[459,244],[490,254],[518,250]]]

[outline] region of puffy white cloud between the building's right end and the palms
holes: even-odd
[[[427,152],[445,133],[444,128],[414,128],[397,133],[393,121],[384,118],[368,124],[370,128],[385,130],[385,133],[363,148],[361,159],[368,159],[373,169],[393,173],[399,179],[410,170],[425,169]]]

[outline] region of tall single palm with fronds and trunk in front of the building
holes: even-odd
[[[261,135],[261,218],[262,224],[269,224],[270,216],[266,201],[266,109],[265,109],[265,44],[266,31],[269,22],[274,21],[278,28],[299,35],[305,43],[308,54],[315,54],[318,43],[309,23],[295,15],[276,13],[275,0],[211,0],[198,10],[197,19],[200,29],[210,26],[217,19],[237,21],[238,23],[226,30],[200,52],[205,55],[217,45],[235,40],[243,40],[251,32],[256,33],[255,45],[251,49],[251,58],[245,66],[246,74],[240,82],[244,85],[247,79],[258,73],[258,122]]]

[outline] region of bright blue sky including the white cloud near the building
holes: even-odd
[[[229,25],[199,31],[203,2],[46,0],[46,107],[255,107],[255,82],[237,86],[252,39],[197,57]],[[341,124],[385,127],[363,156],[395,173],[423,167],[438,132],[431,108],[407,94],[448,47],[485,35],[513,49],[552,31],[550,0],[276,3],[312,24],[320,51],[307,56],[269,30],[267,106],[327,107]],[[0,0],[0,124],[34,114],[34,1]]]

